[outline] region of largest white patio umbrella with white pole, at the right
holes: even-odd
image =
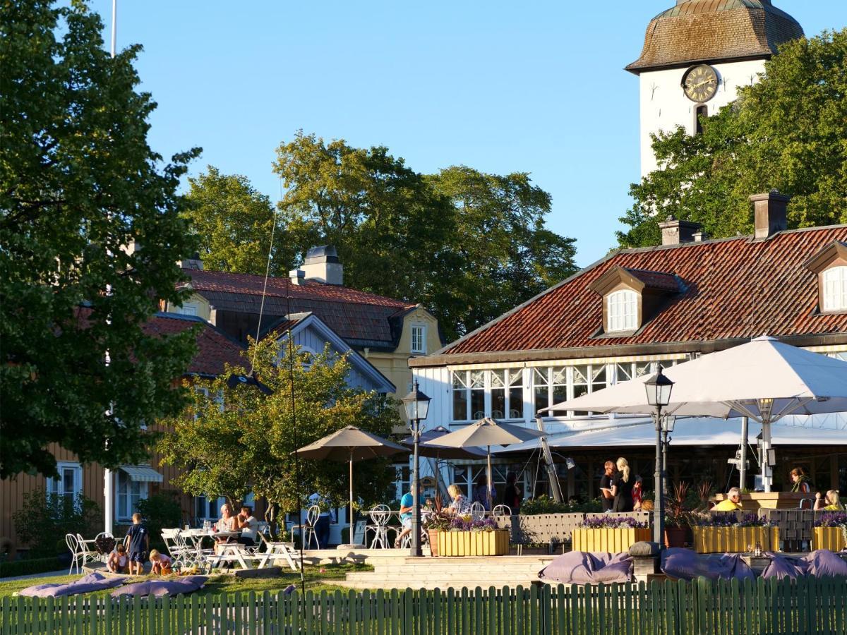
[[[763,335],[747,344],[663,370],[674,383],[663,409],[676,417],[750,417],[762,424],[762,456],[771,445],[771,424],[789,415],[847,411],[847,362],[804,351]],[[652,414],[645,382],[610,386],[551,406],[549,410]],[[545,409],[548,410],[548,409]],[[770,469],[762,461],[765,490]]]

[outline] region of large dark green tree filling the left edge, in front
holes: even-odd
[[[191,332],[147,328],[179,304],[193,251],[177,195],[197,150],[147,146],[140,47],[110,58],[86,5],[3,4],[0,23],[0,477],[56,474],[48,445],[107,467],[146,456],[144,422],[180,411]],[[138,249],[130,246],[140,247]],[[105,362],[108,353],[108,365]]]

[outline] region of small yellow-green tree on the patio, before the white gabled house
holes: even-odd
[[[251,341],[246,359],[272,395],[253,386],[227,384],[228,368],[214,381],[195,384],[194,402],[180,417],[163,420],[158,442],[163,463],[183,468],[174,484],[190,494],[243,500],[250,491],[268,500],[268,521],[278,511],[296,510],[313,492],[343,504],[347,466],[301,459],[297,480],[294,450],[348,425],[388,436],[400,424],[385,396],[346,384],[350,364],[329,347],[317,356],[293,350],[287,340]],[[292,363],[293,362],[293,363]],[[294,410],[291,385],[294,385]],[[363,461],[354,473],[354,491],[366,501],[384,500],[393,486],[388,460]]]

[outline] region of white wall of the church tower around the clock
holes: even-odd
[[[694,65],[694,64],[692,64]],[[754,59],[743,62],[713,63],[720,80],[715,97],[706,102],[708,113],[717,113],[722,107],[734,102],[739,86],[750,86],[765,71],[765,60]],[[651,70],[639,75],[641,90],[641,177],[654,171],[656,157],[653,156],[651,134],[670,132],[681,125],[694,135],[695,112],[700,104],[692,102],[682,89],[682,80],[690,66],[681,69]]]

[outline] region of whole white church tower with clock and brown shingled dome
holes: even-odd
[[[771,0],[677,0],[651,19],[641,57],[626,67],[640,83],[641,176],[656,169],[651,134],[678,125],[697,134],[701,116],[733,102],[779,44],[802,36]]]

